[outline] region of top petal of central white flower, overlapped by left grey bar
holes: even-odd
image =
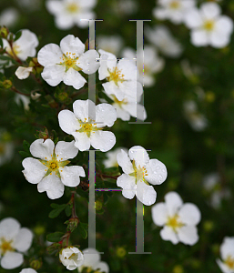
[[[90,99],[78,99],[73,104],[73,110],[78,119],[88,122],[88,117],[91,118],[94,111],[96,111],[96,105]]]

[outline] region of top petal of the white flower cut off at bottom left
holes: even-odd
[[[0,238],[14,239],[20,230],[19,222],[12,217],[6,217],[0,222]]]

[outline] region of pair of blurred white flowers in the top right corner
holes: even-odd
[[[191,29],[192,45],[216,48],[229,45],[233,21],[227,15],[220,15],[217,3],[203,3],[199,9],[195,0],[159,0],[158,5],[153,14],[174,24],[185,23]]]

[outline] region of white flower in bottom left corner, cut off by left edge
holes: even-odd
[[[24,262],[22,253],[31,247],[33,233],[26,227],[20,227],[15,218],[7,217],[0,222],[1,267],[18,268]],[[17,252],[16,252],[17,251]]]

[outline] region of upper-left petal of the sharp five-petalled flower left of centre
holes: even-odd
[[[51,139],[36,139],[30,146],[30,153],[34,157],[50,160],[54,153],[55,144]]]

